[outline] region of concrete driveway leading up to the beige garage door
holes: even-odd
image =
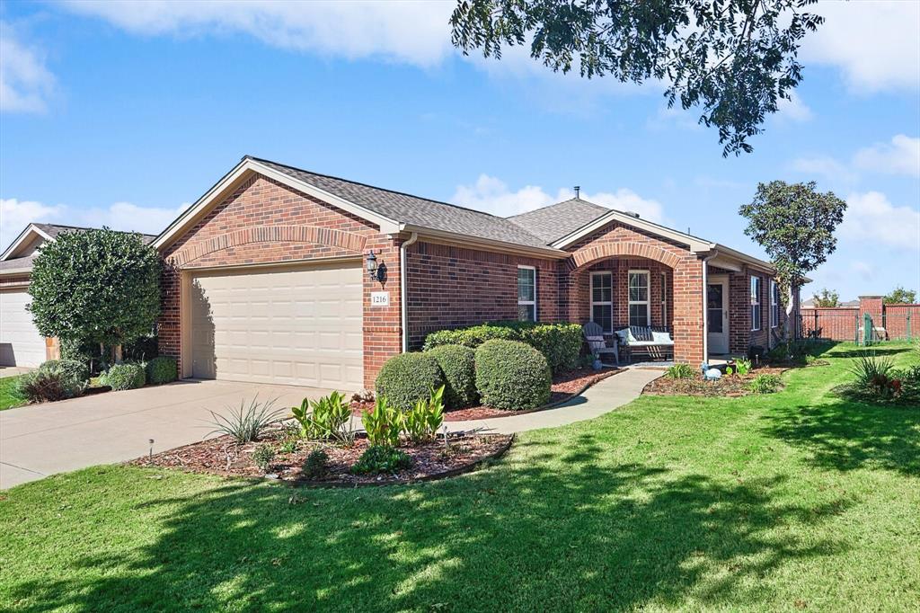
[[[200,441],[210,411],[241,399],[274,399],[278,408],[329,393],[316,387],[183,380],[0,411],[0,490],[56,472],[111,464]]]

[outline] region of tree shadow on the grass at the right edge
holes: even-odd
[[[777,408],[766,432],[811,452],[822,468],[889,468],[920,476],[920,411],[845,399]]]

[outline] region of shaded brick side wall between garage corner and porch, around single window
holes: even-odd
[[[559,321],[558,260],[418,242],[408,248],[408,339],[434,330],[517,319],[518,266],[536,269],[536,316]]]

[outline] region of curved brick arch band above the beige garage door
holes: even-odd
[[[366,237],[317,226],[255,226],[208,238],[189,248],[179,249],[170,261],[176,266],[188,264],[209,253],[252,243],[313,243],[361,253]]]

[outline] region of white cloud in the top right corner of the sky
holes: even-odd
[[[811,10],[825,21],[805,36],[801,58],[806,66],[837,66],[859,92],[920,87],[920,3],[824,0]]]

